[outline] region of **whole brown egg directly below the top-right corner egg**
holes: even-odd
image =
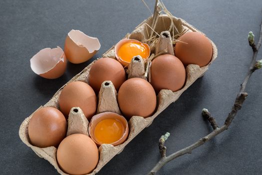
[[[186,81],[183,63],[171,54],[162,54],[151,63],[151,84],[158,93],[161,89],[177,91]]]

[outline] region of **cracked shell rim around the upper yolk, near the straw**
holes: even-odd
[[[148,50],[148,55],[146,57],[143,57],[143,59],[145,60],[150,56],[150,47],[147,43],[141,42],[141,41],[136,40],[136,39],[122,39],[119,42],[117,42],[117,44],[115,45],[115,57],[124,67],[128,66],[130,62],[121,59],[121,57],[118,55],[118,51],[119,51],[120,47],[126,42],[139,42],[139,43],[141,43],[141,45],[146,47],[146,49]],[[134,55],[134,56],[136,56],[136,55]]]

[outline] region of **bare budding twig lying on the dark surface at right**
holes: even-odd
[[[253,34],[253,33],[252,33]],[[159,145],[160,145],[160,141],[161,141],[161,159],[159,160],[159,162],[155,165],[155,167],[148,173],[148,174],[155,174],[162,166],[164,166],[167,162],[181,156],[184,155],[186,153],[191,153],[193,149],[201,146],[202,144],[204,144],[205,142],[207,142],[208,140],[214,138],[216,135],[220,134],[221,132],[225,131],[228,129],[228,127],[230,126],[230,124],[232,123],[232,120],[235,118],[235,116],[237,115],[237,112],[241,109],[242,104],[244,103],[246,97],[248,96],[248,93],[245,92],[246,90],[246,85],[252,75],[252,73],[261,68],[262,67],[262,60],[256,61],[257,55],[258,55],[258,51],[260,49],[261,46],[261,42],[262,42],[262,21],[260,24],[260,37],[259,37],[259,41],[257,43],[257,45],[255,44],[254,41],[254,34],[251,35],[249,34],[248,37],[249,43],[253,49],[253,56],[251,59],[251,65],[249,67],[249,71],[243,81],[243,83],[241,84],[241,88],[240,91],[236,97],[236,100],[234,102],[234,105],[232,107],[231,112],[229,113],[228,117],[225,120],[225,123],[222,127],[219,127],[215,121],[215,118],[213,118],[211,116],[211,114],[208,112],[208,110],[203,109],[203,116],[207,117],[207,119],[209,120],[209,122],[211,123],[212,127],[213,127],[213,131],[210,132],[208,135],[200,138],[198,141],[196,141],[195,143],[191,144],[188,147],[185,147],[177,152],[172,153],[169,156],[166,156],[166,147],[164,145],[165,142],[162,142],[161,138],[159,140]],[[164,153],[162,153],[164,152]],[[165,156],[163,156],[165,155]]]

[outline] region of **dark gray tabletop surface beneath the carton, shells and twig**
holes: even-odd
[[[151,10],[154,2],[146,0]],[[208,108],[221,125],[231,110],[250,63],[247,35],[259,34],[262,0],[164,0],[173,15],[205,32],[218,47],[206,74],[163,111],[98,174],[145,174],[159,159],[158,139],[166,131],[168,154],[209,133]],[[140,0],[0,1],[0,174],[56,174],[18,136],[19,125],[93,59],[101,56],[150,15]],[[29,59],[45,47],[63,47],[67,32],[97,36],[101,49],[82,64],[68,64],[55,80],[41,78]],[[257,38],[258,39],[258,38]],[[262,58],[262,54],[259,54]],[[166,164],[159,174],[261,174],[262,71],[252,76],[249,96],[229,130],[192,154]]]

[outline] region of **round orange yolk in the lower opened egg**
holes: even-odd
[[[99,143],[113,143],[119,140],[124,133],[123,124],[112,118],[101,120],[95,126],[95,139]]]

